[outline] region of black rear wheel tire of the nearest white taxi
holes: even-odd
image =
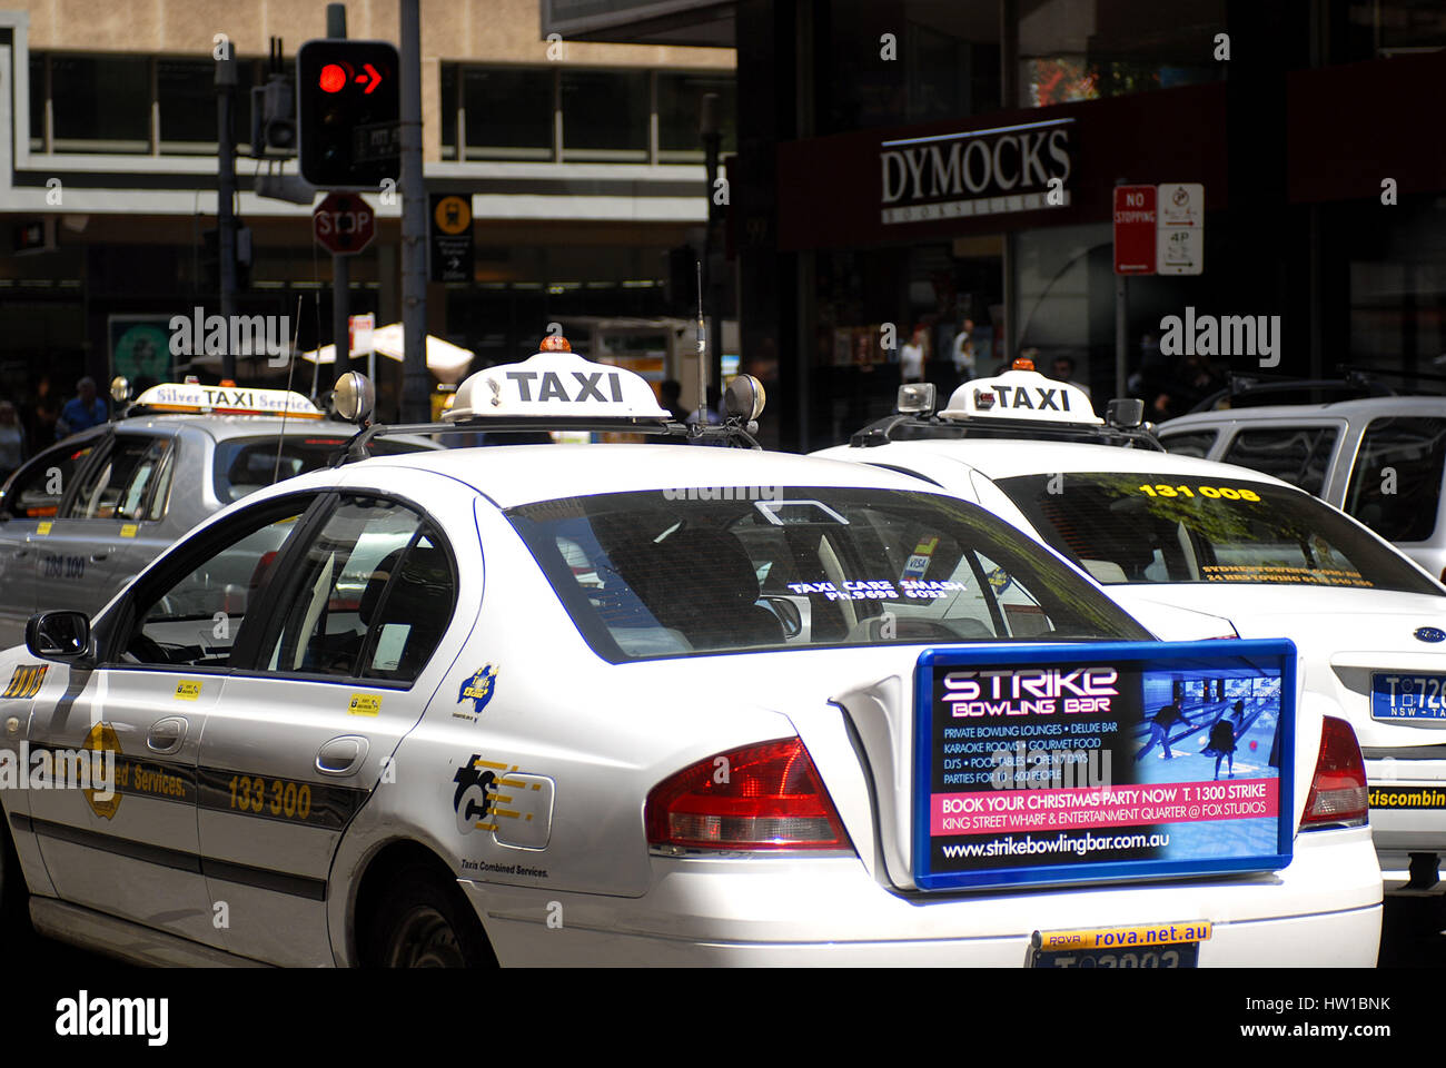
[[[457,881],[435,868],[396,873],[373,913],[367,962],[380,968],[495,968],[487,935]]]

